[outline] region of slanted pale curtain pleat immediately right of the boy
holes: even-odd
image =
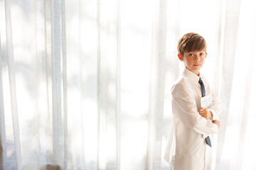
[[[220,97],[222,99],[223,116],[221,122],[227,122],[230,116],[230,96],[233,86],[234,68],[235,68],[235,53],[238,42],[238,26],[240,16],[240,1],[225,1],[225,28],[223,33],[223,57],[222,57],[222,77],[220,77]],[[233,49],[233,50],[231,50]],[[225,139],[227,124],[222,125],[222,130],[218,133],[218,149],[217,157],[221,157],[223,145],[220,140]],[[216,164],[220,164],[220,159]],[[218,166],[217,166],[218,168]]]

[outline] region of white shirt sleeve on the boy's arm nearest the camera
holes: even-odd
[[[172,108],[184,126],[200,134],[218,132],[218,126],[199,115],[193,91],[185,84],[176,84],[172,89]]]

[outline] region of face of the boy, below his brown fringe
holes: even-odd
[[[178,58],[184,62],[186,69],[199,76],[199,70],[203,67],[206,55],[206,50],[201,50],[194,52],[184,52],[183,56],[178,53]]]

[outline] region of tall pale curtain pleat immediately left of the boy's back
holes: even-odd
[[[155,33],[152,37],[151,91],[149,98],[149,127],[146,169],[161,169],[161,147],[164,118],[164,84],[166,63],[166,20],[167,1],[156,1]]]

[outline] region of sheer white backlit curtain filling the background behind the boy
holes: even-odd
[[[0,169],[169,169],[176,43],[203,35],[223,101],[215,169],[256,169],[256,6],[1,0]]]

